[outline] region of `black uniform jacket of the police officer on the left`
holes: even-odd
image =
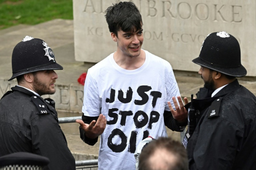
[[[0,156],[31,152],[49,158],[44,170],[74,170],[54,107],[23,87],[11,90],[0,100]]]

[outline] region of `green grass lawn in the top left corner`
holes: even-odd
[[[73,19],[72,0],[0,0],[0,29],[56,18]]]

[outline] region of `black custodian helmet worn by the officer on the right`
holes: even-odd
[[[203,41],[199,57],[192,62],[234,77],[247,74],[245,67],[241,65],[237,39],[224,31],[209,34]]]

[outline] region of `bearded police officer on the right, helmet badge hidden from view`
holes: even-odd
[[[247,74],[237,39],[211,33],[192,61],[201,66],[198,73],[205,84],[193,100],[199,114],[194,133],[186,133],[183,141],[189,169],[256,169],[256,97],[236,79]],[[184,109],[176,102],[176,111],[186,112],[190,104]]]

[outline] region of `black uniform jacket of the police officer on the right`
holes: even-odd
[[[200,91],[195,105],[201,118],[187,144],[189,169],[256,170],[255,95],[238,80],[214,97],[202,99]]]

